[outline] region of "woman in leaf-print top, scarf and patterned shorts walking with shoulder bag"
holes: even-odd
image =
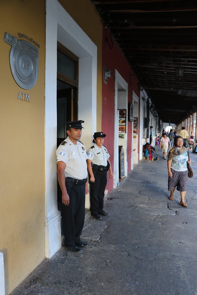
[[[174,199],[174,191],[180,191],[180,205],[183,207],[188,207],[185,204],[185,194],[187,191],[187,181],[188,181],[188,166],[191,160],[188,160],[188,151],[183,146],[183,137],[176,136],[174,141],[174,148],[172,148],[168,153],[167,168],[168,168],[168,191],[170,191],[170,200]]]

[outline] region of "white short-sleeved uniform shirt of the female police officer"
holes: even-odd
[[[107,159],[110,157],[107,149],[102,145],[101,149],[94,144],[94,148],[89,148],[87,151],[87,159],[92,160],[93,164],[107,166]]]

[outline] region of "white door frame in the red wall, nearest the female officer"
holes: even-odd
[[[115,69],[115,114],[114,114],[114,138],[118,138],[118,83],[126,90],[126,110],[128,120],[128,83],[123,79],[120,73]],[[126,133],[126,149],[124,151],[125,156],[125,176],[127,176],[127,134]],[[114,140],[114,176],[113,187],[115,188],[118,183],[118,140]]]

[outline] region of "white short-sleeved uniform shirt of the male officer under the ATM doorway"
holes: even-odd
[[[62,161],[66,164],[64,175],[75,179],[87,178],[87,153],[82,142],[77,141],[75,145],[69,137],[65,139],[56,151],[57,162]]]

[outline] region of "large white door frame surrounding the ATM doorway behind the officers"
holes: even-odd
[[[82,142],[89,147],[96,131],[97,46],[57,0],[46,0],[45,60],[45,254],[61,247],[57,208],[57,40],[79,57],[79,111],[84,120]],[[87,120],[88,118],[88,120]]]

